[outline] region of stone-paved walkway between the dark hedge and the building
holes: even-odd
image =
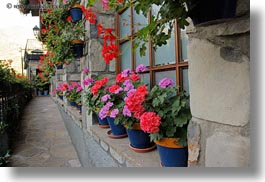
[[[48,96],[26,107],[9,166],[81,167],[56,104]]]

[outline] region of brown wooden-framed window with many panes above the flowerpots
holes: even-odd
[[[159,7],[154,6],[150,13],[156,13],[157,8]],[[144,64],[148,67],[148,71],[141,76],[150,87],[158,84],[162,78],[168,77],[188,94],[188,36],[186,30],[177,28],[177,23],[175,23],[175,30],[167,44],[155,51],[152,43],[148,42],[146,43],[146,55],[141,57],[139,48],[133,50],[134,44],[137,43],[133,40],[133,36],[148,22],[148,18],[137,14],[133,8],[125,9],[117,14],[116,32],[119,36],[118,45],[121,50],[121,56],[117,59],[117,73],[126,68],[135,70],[139,64]]]

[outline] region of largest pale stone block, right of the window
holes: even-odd
[[[189,42],[191,112],[204,120],[244,126],[250,113],[249,59],[224,60],[220,49],[206,40]]]

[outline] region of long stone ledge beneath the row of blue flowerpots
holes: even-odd
[[[72,119],[82,128],[82,115],[71,106],[66,106],[66,103],[60,99],[52,97],[55,103],[58,104]],[[112,158],[114,158],[121,167],[160,167],[160,159],[157,149],[146,153],[134,152],[129,147],[129,138],[113,139],[110,138],[107,132],[110,128],[100,128],[97,124],[88,126],[87,132],[93,139],[105,150]]]

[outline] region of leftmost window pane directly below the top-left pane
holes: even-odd
[[[121,70],[124,70],[126,68],[132,69],[131,42],[127,41],[121,44],[120,51],[121,51]]]

